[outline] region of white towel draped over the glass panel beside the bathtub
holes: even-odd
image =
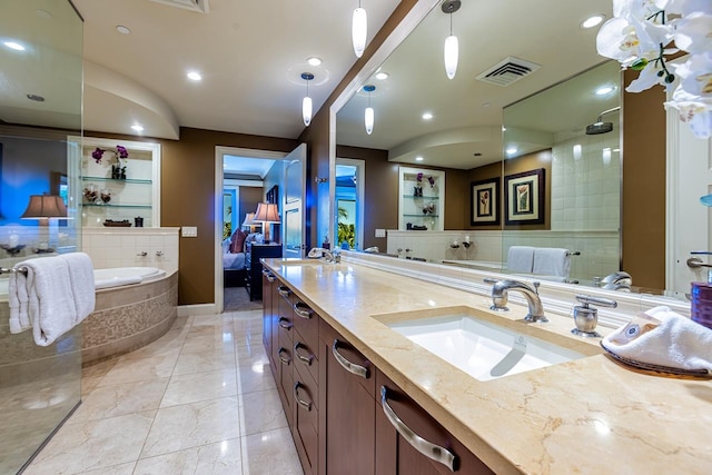
[[[32,327],[34,343],[49,346],[93,311],[93,270],[83,256],[33,258],[14,266],[26,268],[27,276],[10,275],[10,333]]]

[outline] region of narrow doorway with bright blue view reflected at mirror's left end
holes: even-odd
[[[334,246],[360,249],[364,243],[364,177],[366,162],[336,159]]]

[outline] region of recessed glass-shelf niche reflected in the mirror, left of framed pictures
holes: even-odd
[[[423,174],[418,182],[418,174]],[[408,229],[413,226],[426,226],[427,230],[444,229],[445,216],[445,171],[399,167],[398,191],[398,229]],[[433,178],[431,186],[428,177]],[[421,187],[423,196],[415,195],[416,187]],[[424,214],[423,208],[432,205],[434,212]]]

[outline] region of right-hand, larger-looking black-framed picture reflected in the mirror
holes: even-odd
[[[544,169],[504,177],[505,225],[544,222]]]

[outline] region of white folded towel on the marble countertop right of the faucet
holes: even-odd
[[[712,373],[712,329],[664,306],[639,314],[601,345],[634,362]]]

